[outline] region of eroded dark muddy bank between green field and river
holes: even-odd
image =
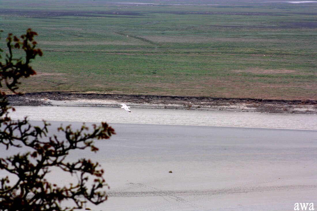
[[[316,100],[268,100],[251,98],[214,98],[193,96],[152,96],[123,94],[79,94],[71,92],[37,92],[7,95],[11,106],[87,106],[134,108],[232,110],[268,113],[317,114]]]

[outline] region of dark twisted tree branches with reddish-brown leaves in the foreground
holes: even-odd
[[[32,126],[26,117],[13,121],[8,115],[14,108],[9,106],[3,89],[20,94],[17,92],[19,80],[36,74],[30,66],[36,56],[42,56],[41,49],[36,47],[36,35],[31,29],[19,38],[9,34],[6,39],[8,52],[4,59],[0,54],[0,150],[27,149],[25,153],[9,157],[0,155],[0,173],[6,174],[0,174],[0,210],[73,210],[82,208],[87,201],[99,204],[107,200],[104,189],[109,188],[103,178],[103,169],[97,162],[84,158],[67,162],[66,157],[75,149],[90,148],[97,152],[93,139],[108,139],[115,134],[113,128],[105,122],[93,125],[93,129],[88,129],[85,124],[77,130],[70,126],[60,127],[58,131],[65,134],[60,140],[56,135],[48,135],[49,123],[45,121],[42,126]],[[14,57],[17,51],[22,51],[24,56]],[[0,49],[0,53],[3,52]],[[50,183],[47,174],[52,167],[76,175],[77,183],[63,187]],[[88,185],[88,179],[92,184]],[[61,207],[64,200],[74,203]]]

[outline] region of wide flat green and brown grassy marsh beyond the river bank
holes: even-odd
[[[317,99],[317,3],[118,2],[0,0],[44,54],[21,91]]]

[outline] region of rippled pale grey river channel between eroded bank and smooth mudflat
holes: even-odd
[[[224,110],[124,109],[107,107],[15,106],[14,120],[197,125],[317,130],[316,114],[261,113]]]

